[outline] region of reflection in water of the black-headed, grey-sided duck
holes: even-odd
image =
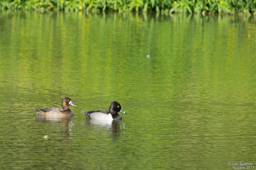
[[[121,125],[122,120],[98,120],[86,119],[85,125],[97,127],[98,129],[109,129],[111,137],[118,137],[121,134],[124,125]]]

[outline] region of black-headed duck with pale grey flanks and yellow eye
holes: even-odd
[[[97,111],[83,111],[81,113],[85,115],[87,119],[98,119],[98,120],[122,120],[122,116],[118,112],[127,114],[121,108],[121,105],[117,101],[113,101],[110,104],[109,110],[97,110]]]

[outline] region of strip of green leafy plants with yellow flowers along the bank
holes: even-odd
[[[256,0],[0,0],[1,10],[254,14]]]

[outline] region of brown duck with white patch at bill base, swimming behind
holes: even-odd
[[[77,106],[77,104],[74,104],[69,97],[64,97],[62,99],[62,108],[44,108],[44,109],[36,109],[33,108],[34,111],[36,111],[37,115],[42,116],[74,116],[73,111],[68,107],[71,106]]]

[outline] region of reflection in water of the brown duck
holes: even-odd
[[[56,116],[56,117],[45,117],[41,115],[36,116],[36,121],[37,122],[47,122],[50,124],[62,124],[61,128],[61,135],[62,136],[69,136],[69,134],[72,132],[71,131],[71,126],[73,122],[73,116]]]

